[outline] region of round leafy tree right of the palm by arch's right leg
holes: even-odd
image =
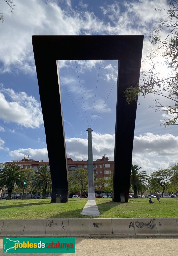
[[[170,180],[173,171],[170,169],[161,169],[150,174],[150,188],[153,191],[162,190],[162,196],[165,189],[170,190]]]

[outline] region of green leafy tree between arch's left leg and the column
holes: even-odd
[[[86,169],[78,168],[69,172],[69,190],[70,192],[84,193],[88,190],[88,171]]]

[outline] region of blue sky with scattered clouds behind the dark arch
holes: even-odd
[[[14,0],[14,13],[0,1],[4,22],[0,24],[0,162],[30,158],[48,160],[32,35],[144,35],[144,60],[152,29],[165,12],[165,0]],[[76,60],[86,115],[90,126],[100,113],[117,78],[117,60]],[[59,61],[67,157],[87,160],[87,120],[74,60]],[[100,67],[100,71],[99,71]],[[142,63],[142,69],[148,68]],[[160,72],[165,68],[161,67]],[[99,72],[99,76],[98,76]],[[97,84],[98,78],[98,84]],[[96,90],[97,84],[97,90]],[[50,85],[49,85],[50,86]],[[93,126],[93,158],[104,154],[114,159],[117,83]],[[96,100],[93,111],[93,104]],[[154,95],[140,97],[137,108],[132,163],[148,173],[177,163],[178,137],[175,126],[161,125],[161,112],[149,108]],[[47,99],[46,99],[47,101]],[[165,101],[165,99],[162,99]],[[49,102],[50,104],[50,102]],[[52,123],[55,125],[55,122]],[[85,126],[86,125],[86,126]],[[55,145],[59,151],[60,145]]]

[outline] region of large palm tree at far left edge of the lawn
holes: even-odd
[[[20,166],[15,164],[6,165],[0,169],[0,189],[4,186],[8,189],[6,199],[12,199],[12,190],[15,186],[23,188],[25,181],[25,172],[20,170]]]

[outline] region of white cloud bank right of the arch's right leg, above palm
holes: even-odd
[[[178,136],[146,133],[134,136],[132,163],[150,173],[176,164],[177,152]]]

